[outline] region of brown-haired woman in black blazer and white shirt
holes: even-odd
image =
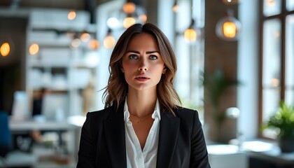
[[[87,113],[77,167],[210,167],[198,113],[181,107],[176,57],[158,27],[128,28],[109,67],[106,109]]]

